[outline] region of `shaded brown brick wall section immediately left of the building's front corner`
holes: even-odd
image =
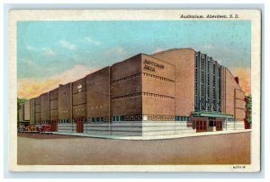
[[[141,114],[141,55],[112,65],[111,78],[111,115]]]

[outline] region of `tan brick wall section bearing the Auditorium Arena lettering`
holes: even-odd
[[[175,65],[142,55],[141,70],[142,114],[175,116]]]

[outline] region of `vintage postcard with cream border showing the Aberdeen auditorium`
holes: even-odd
[[[9,13],[11,171],[260,171],[258,10]]]

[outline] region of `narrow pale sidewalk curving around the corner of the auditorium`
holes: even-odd
[[[202,132],[194,134],[168,134],[168,135],[152,135],[152,136],[122,136],[122,135],[102,135],[102,134],[81,134],[81,133],[58,133],[52,132],[52,134],[62,134],[62,135],[72,135],[72,136],[82,136],[91,138],[103,138],[103,139],[114,139],[114,140],[166,140],[184,137],[194,137],[194,136],[204,136],[204,135],[217,135],[217,134],[236,134],[251,132],[251,129],[245,130],[225,130],[219,132]]]

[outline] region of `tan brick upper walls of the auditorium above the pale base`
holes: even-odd
[[[172,121],[175,117],[181,117],[177,120],[181,121],[192,117],[196,111],[196,54],[201,53],[192,48],[179,48],[150,56],[132,56],[85,75],[76,82],[43,93],[31,104],[33,107],[30,108],[34,108],[34,114],[31,115],[36,122],[68,119],[69,123],[81,118],[94,122],[113,122],[115,117],[119,117],[120,121]],[[201,56],[207,61],[211,60],[206,63],[217,66],[215,73],[211,73],[218,74],[215,83],[221,91],[219,89],[220,92],[213,91],[211,94],[217,94],[215,99],[221,100],[219,109],[222,114],[243,120],[245,92],[241,91],[226,67],[205,54]],[[211,79],[208,79],[207,84],[211,84],[214,89],[217,85],[212,86],[209,83]]]

